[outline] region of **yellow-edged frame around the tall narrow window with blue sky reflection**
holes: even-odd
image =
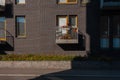
[[[24,20],[25,20],[25,22],[24,22],[24,35],[20,35],[18,32],[18,26],[17,26],[17,17],[24,17]],[[16,16],[15,17],[15,23],[16,23],[16,37],[17,38],[26,38],[26,17],[25,16]]]

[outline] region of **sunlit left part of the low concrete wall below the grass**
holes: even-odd
[[[0,68],[71,69],[70,61],[0,61]]]

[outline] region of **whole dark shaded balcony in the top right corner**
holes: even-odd
[[[101,9],[120,9],[120,0],[100,0]]]

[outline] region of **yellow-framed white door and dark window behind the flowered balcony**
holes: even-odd
[[[57,16],[57,26],[62,30],[62,34],[67,34],[77,28],[77,16]]]

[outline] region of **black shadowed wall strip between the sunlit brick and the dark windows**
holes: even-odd
[[[100,0],[90,0],[86,8],[86,32],[90,36],[90,52],[99,51]]]

